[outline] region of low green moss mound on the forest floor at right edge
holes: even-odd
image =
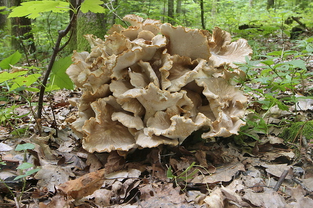
[[[304,126],[303,126],[304,125]],[[290,127],[285,128],[279,137],[285,141],[292,142],[295,137],[305,136],[307,140],[313,139],[313,121],[301,121],[293,123]]]

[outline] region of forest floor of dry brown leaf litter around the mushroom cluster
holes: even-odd
[[[22,136],[0,126],[0,162],[6,164],[0,165],[0,207],[313,207],[313,140],[303,131],[312,119],[312,100],[298,112],[304,123],[295,127],[291,141],[279,136],[282,127],[273,125],[268,134],[257,132],[258,141],[195,141],[190,136],[182,146],[136,149],[120,156],[82,149],[65,122],[76,112],[67,99],[79,96],[79,91],[58,91],[46,97],[41,136],[35,134],[31,113],[12,120],[19,129],[27,126]],[[22,104],[17,114],[29,112],[18,95],[11,98]],[[250,99],[249,108],[255,108]],[[11,106],[10,101],[1,104]],[[289,116],[272,112],[268,122]],[[16,150],[25,143],[34,148]],[[33,167],[20,166],[27,163],[40,170],[28,174]]]

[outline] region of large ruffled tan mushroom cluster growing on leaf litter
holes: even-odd
[[[74,52],[67,74],[78,114],[68,119],[88,152],[176,146],[196,130],[202,138],[237,134],[247,98],[232,85],[244,78],[235,62],[252,50],[215,27],[173,27],[127,15],[105,41],[86,35],[91,52]],[[231,69],[231,70],[230,70]]]

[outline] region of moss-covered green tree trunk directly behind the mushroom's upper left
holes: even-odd
[[[106,34],[105,15],[99,13],[82,13],[79,11],[77,16],[77,50],[89,51],[90,44],[84,38],[86,34],[93,34],[101,39]]]

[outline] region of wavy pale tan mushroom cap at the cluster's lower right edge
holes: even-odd
[[[244,116],[247,107],[247,98],[243,92],[227,83],[223,78],[199,79],[195,82],[204,88],[203,95],[210,106],[210,110],[206,110],[206,112],[213,114],[204,114],[211,118],[213,126],[209,132],[202,134],[202,137],[227,137],[237,134],[239,128],[245,124],[240,119]]]

